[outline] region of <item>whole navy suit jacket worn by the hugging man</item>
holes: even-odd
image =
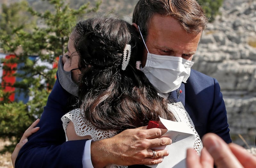
[[[169,100],[183,103],[199,136],[214,132],[227,143],[231,142],[227,112],[217,80],[191,70],[187,83],[182,83],[179,90],[182,91],[180,96],[173,91]],[[66,142],[60,120],[70,110],[70,104],[70,94],[61,87],[57,77],[38,124],[40,130],[31,135],[21,148],[16,168],[82,167],[86,140]]]

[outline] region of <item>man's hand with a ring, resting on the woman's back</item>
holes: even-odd
[[[127,129],[112,138],[91,143],[91,159],[94,168],[108,164],[134,165],[158,164],[163,156],[168,156],[167,150],[157,150],[156,147],[169,145],[172,140],[161,137],[167,130],[147,127]],[[156,155],[153,156],[154,149]]]

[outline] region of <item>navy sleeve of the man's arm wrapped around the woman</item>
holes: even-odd
[[[17,156],[15,167],[82,167],[86,140],[66,141],[60,120],[67,112],[70,94],[57,81],[37,125]]]

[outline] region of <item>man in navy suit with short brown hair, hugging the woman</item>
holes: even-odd
[[[207,19],[196,0],[139,0],[133,13],[133,26],[141,31],[145,40],[142,68],[147,64],[148,54],[180,57],[184,62],[190,62],[206,24]],[[77,67],[66,66],[64,70],[74,68]],[[172,80],[161,70],[157,72],[162,79]],[[172,83],[165,83],[167,90],[168,87],[175,89],[171,89],[170,93],[164,91],[161,95],[168,97],[171,102],[183,103],[200,137],[207,132],[214,132],[227,143],[231,142],[227,112],[218,82],[195,70],[186,73],[190,74],[187,80],[182,79],[177,83],[179,76],[176,75]],[[40,130],[31,135],[21,148],[15,167],[96,168],[107,164],[157,164],[162,162],[161,157],[168,152],[177,152],[156,150],[156,157],[151,158],[152,148],[171,143],[169,138],[160,138],[164,132],[156,128],[128,129],[112,138],[95,142],[65,142],[60,118],[72,104],[70,97],[57,78],[37,125]]]

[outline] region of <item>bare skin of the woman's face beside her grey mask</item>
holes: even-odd
[[[75,46],[74,46],[74,41],[72,40],[72,37],[69,38],[68,40],[68,52],[64,54],[62,57],[62,62],[63,62],[63,69],[65,71],[71,71],[72,69],[72,79],[78,83],[79,81],[79,75],[81,74],[78,68],[78,63],[79,63],[79,55],[76,52]]]

